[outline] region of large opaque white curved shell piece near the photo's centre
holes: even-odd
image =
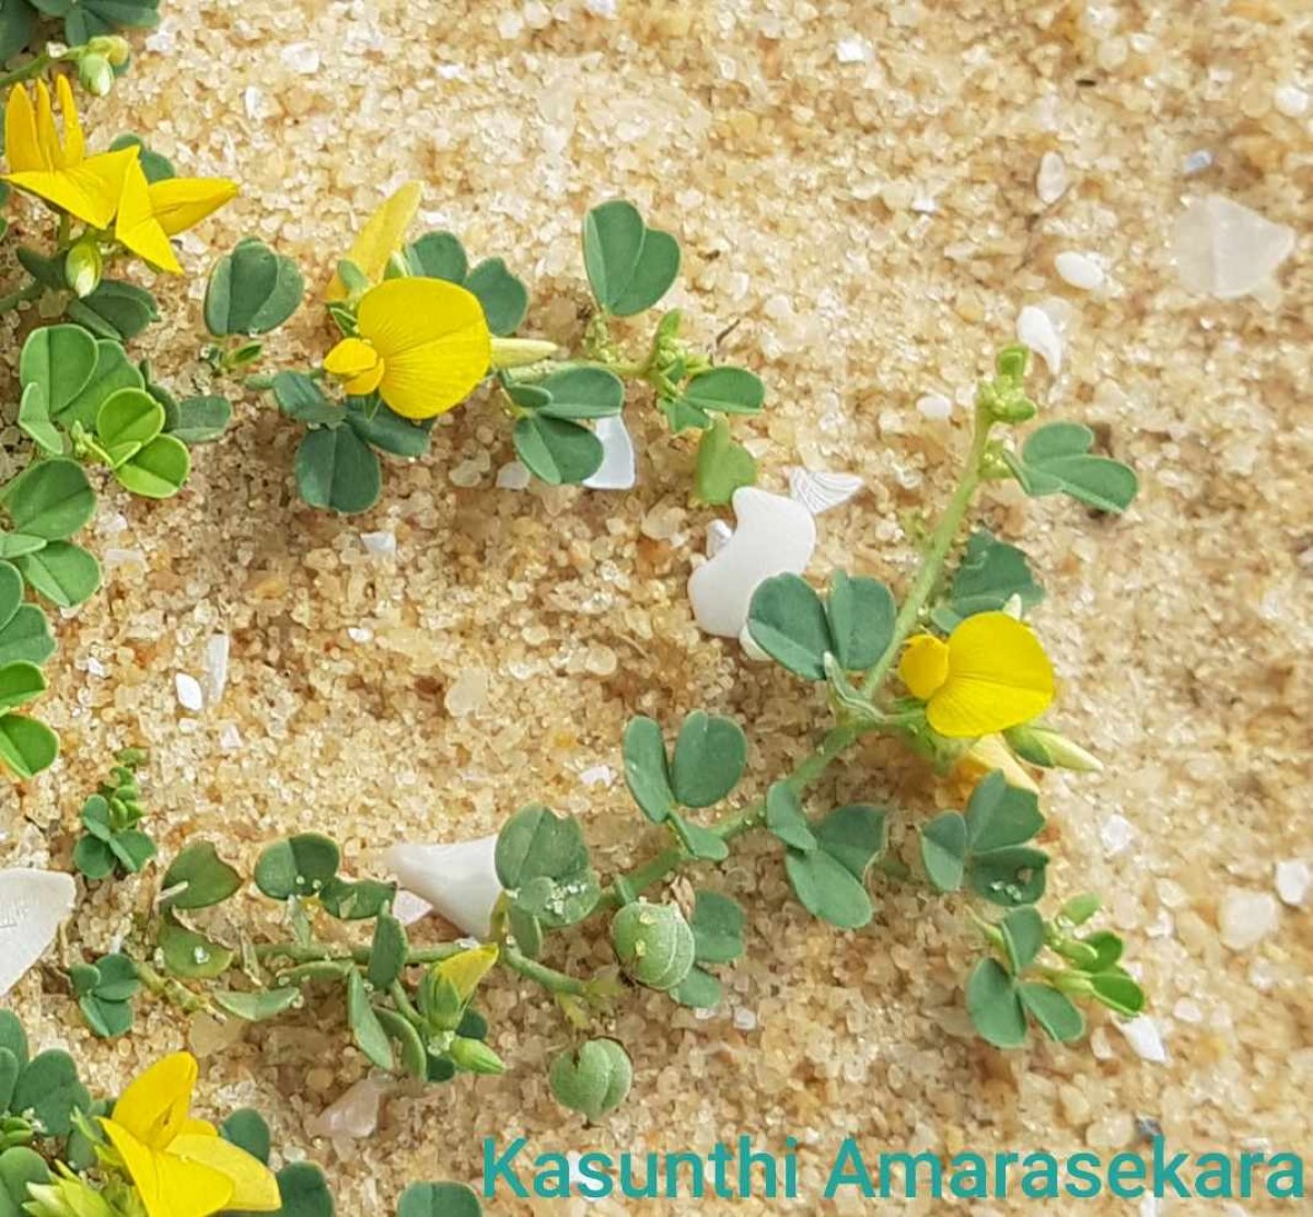
[[[734,536],[688,580],[693,617],[708,634],[737,638],[758,584],[801,575],[817,546],[817,525],[801,503],[754,486],[734,491]]]

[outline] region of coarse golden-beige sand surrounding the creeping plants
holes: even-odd
[[[989,1050],[964,1033],[974,944],[956,902],[877,885],[874,924],[831,933],[789,901],[777,856],[758,845],[723,877],[751,926],[730,1002],[706,1019],[655,995],[624,1002],[612,1029],[634,1054],[635,1088],[601,1128],[551,1101],[544,1063],[569,1036],[541,994],[509,982],[488,1006],[512,1073],[393,1100],[345,1159],[306,1133],[364,1071],[331,1004],[222,1052],[193,1031],[210,1111],[264,1108],[289,1158],[326,1163],[352,1217],[391,1212],[411,1179],[475,1179],[486,1136],[523,1134],[534,1150],[705,1149],[739,1132],[780,1147],[794,1136],[805,1212],[829,1210],[821,1174],[848,1133],[874,1149],[1107,1153],[1134,1147],[1144,1117],[1196,1153],[1313,1150],[1308,912],[1281,906],[1239,952],[1217,929],[1229,893],[1275,895],[1275,863],[1313,859],[1313,263],[1301,246],[1279,297],[1224,303],[1184,293],[1167,252],[1192,196],[1305,224],[1313,125],[1272,105],[1283,81],[1313,85],[1302,4],[164,8],[88,125],[106,142],[140,131],[184,171],[246,184],[188,238],[197,277],[167,286],[167,319],[143,343],[176,383],[200,368],[202,270],[247,232],[323,282],[385,189],[420,177],[429,224],[504,255],[532,286],[530,331],[565,340],[584,301],[580,218],[625,194],[681,235],[676,301],[696,332],[709,340],[737,322],[725,357],[768,382],[768,410],[746,428],[764,484],[783,487],[796,463],[865,479],[823,519],[817,576],[843,563],[907,578],[905,526],[947,495],[966,432],[960,408],[930,421],[914,403],[962,400],[1024,303],[1069,311],[1045,408],[1098,425],[1145,483],[1119,521],[1006,487],[983,519],[1033,555],[1049,588],[1036,620],[1062,679],[1057,721],[1108,763],[1102,777],[1045,782],[1050,887],[1107,895],[1166,1063],[1141,1059],[1100,1015],[1075,1048]],[[1036,193],[1046,151],[1070,179],[1052,206]],[[1195,156],[1190,175],[1199,152],[1211,163]],[[1053,268],[1064,249],[1096,257],[1106,286],[1066,286]],[[276,360],[318,357],[326,341],[309,309]],[[4,796],[17,806],[0,860],[66,864],[81,798],[129,743],[154,752],[164,849],[204,835],[246,866],[263,842],[318,827],[365,870],[402,835],[486,834],[532,798],[583,817],[608,865],[639,857],[651,830],[617,779],[635,712],[738,715],[763,789],[805,750],[818,701],[695,629],[684,580],[712,513],[687,505],[688,445],[645,400],[630,419],[641,480],[626,495],[495,488],[512,453],[484,399],[442,420],[428,459],[389,469],[361,519],[298,504],[294,428],[253,398],[200,453],[179,500],[106,490],[89,540],[108,586],[63,622],[45,704],[64,759]],[[368,532],[391,532],[395,559],[368,553]],[[175,676],[204,675],[221,633],[226,693],[186,714]],[[445,697],[469,672],[486,673],[488,692],[456,717]],[[881,746],[818,794],[897,797],[903,838],[949,797]],[[97,891],[72,937],[104,948],[129,928],[134,898],[131,885]],[[603,956],[600,941],[575,940],[562,961]],[[72,1045],[110,1088],[188,1042],[186,1023],[159,1007],[133,1037],[95,1041],[50,970],[14,996],[39,1042]],[[1226,1212],[1278,1210],[1267,1204]]]

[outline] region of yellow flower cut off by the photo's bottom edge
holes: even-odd
[[[227,1209],[274,1213],[278,1182],[213,1124],[192,1120],[197,1065],[175,1053],[152,1065],[101,1119],[147,1217],[210,1217]]]

